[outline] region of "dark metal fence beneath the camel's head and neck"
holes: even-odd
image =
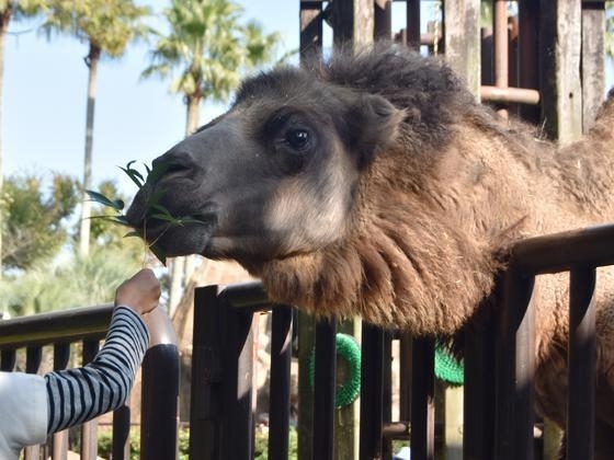
[[[593,458],[595,269],[614,265],[614,226],[527,239],[511,251],[499,283],[497,317],[466,336],[464,386],[465,459],[541,458],[534,439],[535,276],[570,273],[569,460]],[[252,459],[254,313],[272,310],[269,459],[288,458],[292,310],[272,306],[258,283],[196,290],[192,369],[190,456],[193,459]],[[434,458],[433,341],[401,336],[400,417],[387,416],[389,352],[385,331],[363,325],[361,460],[387,458],[391,438],[410,439],[412,459]],[[311,456],[333,459],[336,323],[316,332]],[[409,345],[411,342],[411,345]],[[405,350],[405,352],[403,352]],[[405,353],[405,356],[403,356]],[[409,356],[411,355],[411,356]],[[409,376],[411,373],[411,376]],[[405,380],[405,381],[403,381]],[[409,393],[409,394],[408,394]],[[389,401],[388,401],[389,403]],[[299,409],[300,411],[300,409]]]

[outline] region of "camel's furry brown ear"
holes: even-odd
[[[361,95],[350,108],[350,138],[359,153],[359,166],[364,168],[373,158],[393,143],[405,112],[378,94]]]

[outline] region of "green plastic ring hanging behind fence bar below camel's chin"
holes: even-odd
[[[348,334],[337,334],[337,354],[348,363],[350,377],[343,384],[337,387],[334,406],[337,409],[352,404],[361,393],[361,348]],[[311,350],[309,358],[309,382],[314,388],[316,381],[316,350]]]

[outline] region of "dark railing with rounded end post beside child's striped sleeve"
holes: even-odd
[[[70,344],[82,344],[82,364],[93,359],[99,343],[106,335],[113,306],[75,308],[0,321],[0,369],[15,370],[18,350],[25,349],[25,371],[38,372],[43,347],[53,347],[53,367],[65,369]],[[150,344],[143,364],[140,407],[140,458],[169,460],[177,457],[179,353],[170,320],[160,309],[145,317]],[[81,426],[81,458],[95,459],[98,422]],[[129,459],[130,414],[127,406],[113,413],[113,459]],[[46,446],[25,449],[25,459],[38,459],[41,450],[53,459],[66,458],[68,432],[53,436]],[[46,457],[45,457],[46,458]]]

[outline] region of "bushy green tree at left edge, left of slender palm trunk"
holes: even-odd
[[[78,203],[77,181],[54,174],[52,186],[43,177],[8,177],[2,187],[2,266],[29,269],[55,256],[67,242],[66,219]]]

